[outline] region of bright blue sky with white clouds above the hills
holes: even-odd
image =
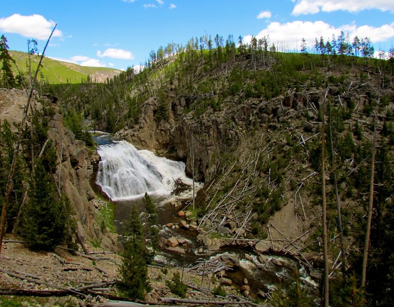
[[[0,34],[11,50],[36,38],[45,55],[87,66],[125,69],[151,50],[191,37],[234,39],[269,35],[279,50],[299,50],[302,38],[327,40],[341,30],[369,37],[376,51],[394,45],[393,0],[10,0],[1,5]]]

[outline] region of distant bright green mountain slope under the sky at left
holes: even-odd
[[[15,60],[17,68],[22,74],[28,71],[28,54],[20,51],[10,51],[10,55]],[[39,57],[32,58],[32,71],[35,71]],[[13,72],[18,74],[18,69],[13,65]],[[62,62],[48,57],[44,57],[39,78],[51,84],[58,83],[81,83],[87,76],[94,82],[106,82],[107,78],[112,78],[120,74],[120,70],[106,67],[84,67],[74,63]]]

